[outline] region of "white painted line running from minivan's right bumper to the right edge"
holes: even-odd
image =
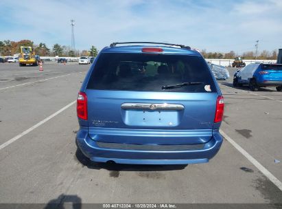
[[[263,173],[263,175],[265,175],[268,179],[270,179],[270,181],[272,181],[272,183],[277,186],[281,191],[282,191],[282,183],[281,181],[279,181],[279,179],[277,179],[277,177],[274,177],[274,175],[272,175],[272,173],[270,173],[270,171],[268,169],[266,169],[263,165],[261,165],[257,159],[255,159],[254,157],[252,157],[252,155],[250,155],[249,153],[247,153],[244,148],[242,148],[241,146],[239,146],[239,144],[237,144],[233,139],[231,139],[231,137],[229,137],[226,133],[224,133],[224,131],[220,130],[220,134],[229,142],[231,143],[236,149],[237,151],[239,151],[240,153],[242,153],[242,155],[244,155],[244,157],[246,157],[254,166],[256,166],[261,173]]]

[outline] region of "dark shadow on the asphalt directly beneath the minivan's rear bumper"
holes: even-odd
[[[90,169],[106,169],[110,171],[162,171],[162,170],[183,170],[187,165],[136,165],[136,164],[108,164],[92,162],[90,159],[85,157],[78,148],[75,152],[75,158],[82,166],[87,166]]]

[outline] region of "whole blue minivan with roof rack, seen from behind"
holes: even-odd
[[[93,162],[195,164],[222,144],[224,100],[196,50],[168,43],[112,43],[78,94],[78,148]]]

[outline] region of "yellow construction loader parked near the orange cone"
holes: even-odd
[[[35,55],[32,47],[21,47],[21,55],[19,56],[19,65],[38,66],[40,63],[40,56]]]

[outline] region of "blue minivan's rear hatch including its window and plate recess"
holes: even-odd
[[[218,92],[201,56],[100,54],[86,95],[93,140],[199,144],[211,139]]]

